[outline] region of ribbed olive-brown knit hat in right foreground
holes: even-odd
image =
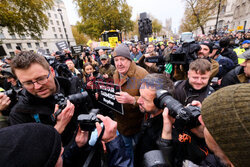
[[[235,166],[250,164],[250,84],[218,90],[202,103],[205,126]]]

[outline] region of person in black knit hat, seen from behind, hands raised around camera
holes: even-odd
[[[117,135],[117,123],[102,115],[97,117],[105,127],[101,141],[108,150],[108,166],[131,166],[131,159],[124,153],[124,142]],[[99,135],[101,125],[96,123],[96,127]],[[91,151],[87,141],[88,132],[80,128],[74,143],[65,149],[60,134],[51,126],[26,123],[3,128],[0,130],[0,166],[80,167]],[[94,160],[97,159],[91,159],[89,166],[93,166]]]

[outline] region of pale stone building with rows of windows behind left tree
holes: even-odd
[[[51,10],[46,11],[49,18],[48,29],[44,30],[40,40],[34,40],[29,36],[18,36],[17,34],[9,34],[7,28],[0,31],[0,43],[7,55],[14,55],[16,46],[20,46],[22,50],[37,51],[39,48],[47,53],[57,51],[56,42],[68,41],[69,44],[75,45],[71,26],[67,17],[66,8],[63,1],[55,0]],[[63,25],[64,23],[64,25]]]

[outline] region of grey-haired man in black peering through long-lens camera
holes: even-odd
[[[140,97],[137,100],[144,121],[135,147],[135,166],[143,166],[143,156],[151,150],[159,150],[157,140],[162,133],[163,110],[154,104],[156,90],[173,92],[173,82],[164,74],[148,74],[140,86]]]

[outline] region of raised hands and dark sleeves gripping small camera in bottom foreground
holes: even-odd
[[[105,127],[99,143],[95,143],[94,146],[90,145],[90,143],[93,142],[90,141],[92,140],[92,135],[89,135],[91,131],[86,131],[84,129],[80,129],[79,127],[75,142],[64,151],[63,166],[80,167],[83,166],[83,164],[87,165],[86,163],[89,162],[88,166],[104,166],[104,164],[107,164],[109,167],[130,167],[132,165],[132,161],[130,156],[125,152],[125,144],[121,135],[117,134],[117,122],[113,121],[109,117],[104,117],[103,115],[97,115],[96,117],[102,121],[103,127]],[[95,126],[98,136],[100,136],[102,133],[102,126],[98,122],[95,123]],[[91,137],[89,138],[89,136]],[[102,157],[104,153],[101,142],[106,147],[107,156],[105,160],[107,161],[105,161]],[[93,157],[89,158],[92,153]]]

